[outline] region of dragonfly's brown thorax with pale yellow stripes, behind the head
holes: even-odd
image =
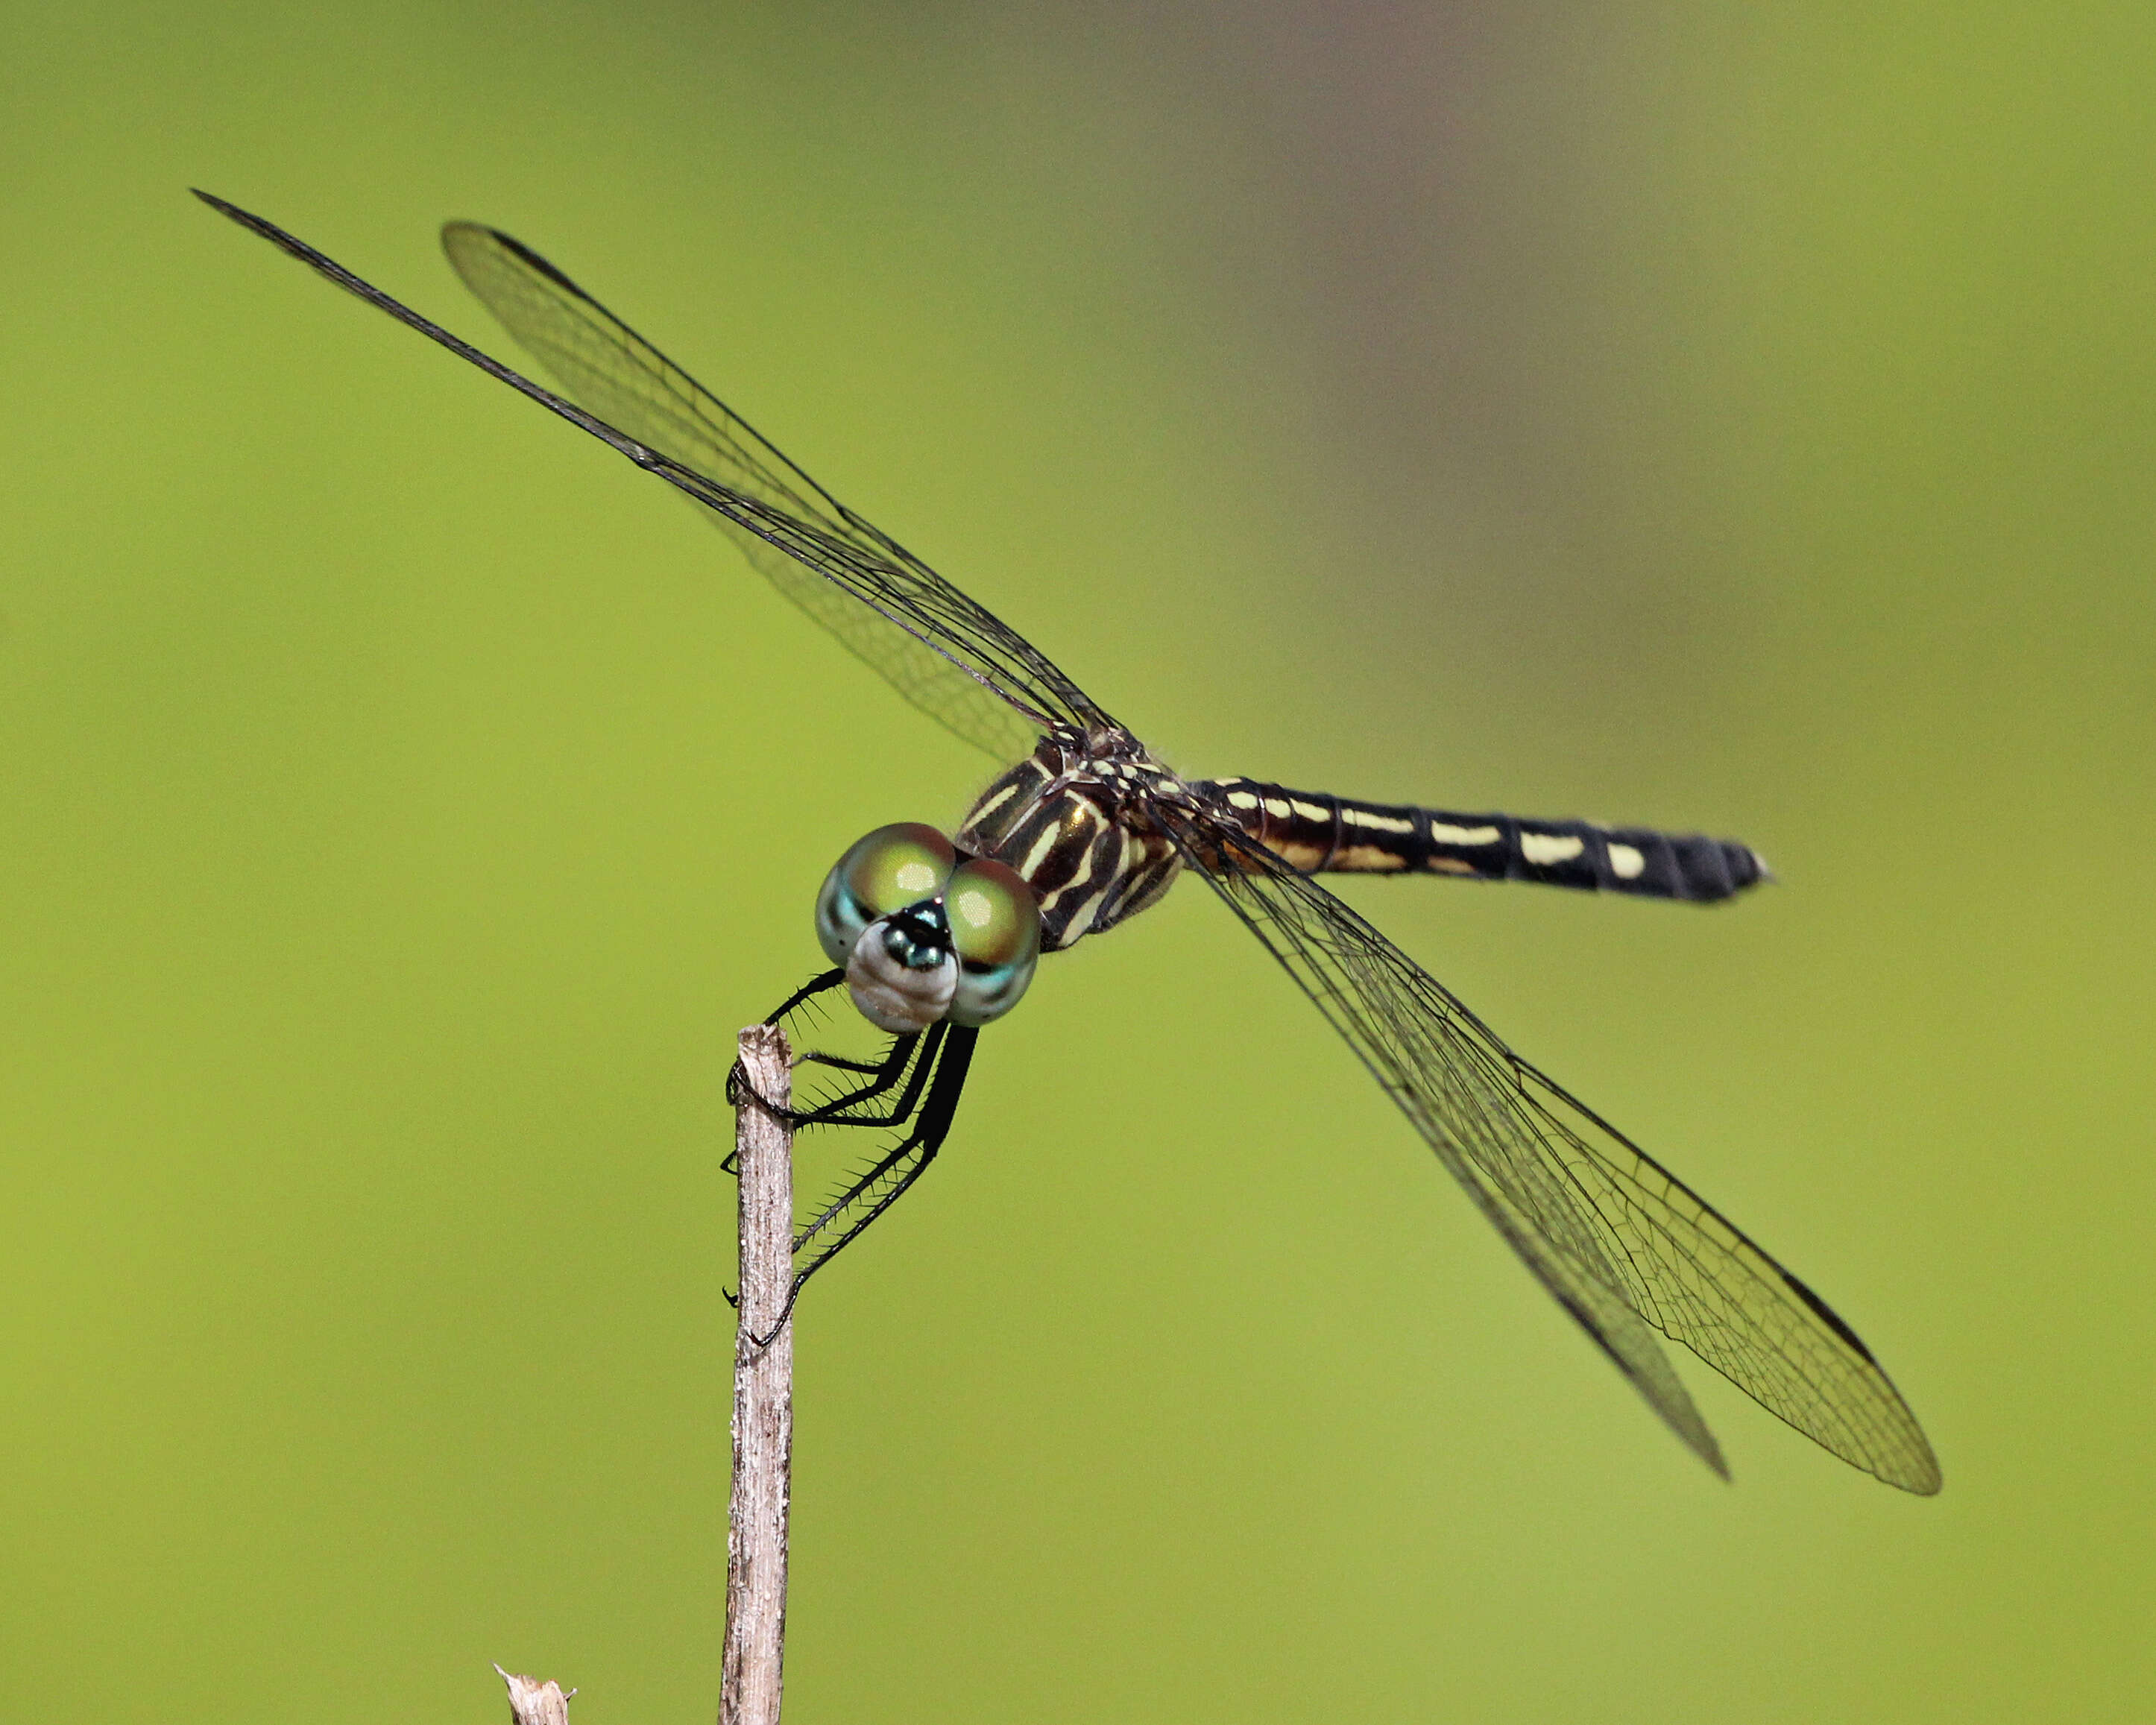
[[[1128,731],[1059,727],[972,804],[957,843],[1018,871],[1056,951],[1136,916],[1175,882],[1181,856],[1147,815],[1192,794]]]

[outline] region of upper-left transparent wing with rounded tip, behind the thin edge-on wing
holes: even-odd
[[[442,250],[573,401],[716,481],[724,500],[699,500],[757,571],[931,718],[1003,761],[1026,755],[1048,720],[1110,722],[1015,630],[830,496],[543,257],[472,222],[442,229]]]

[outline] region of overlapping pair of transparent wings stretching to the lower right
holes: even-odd
[[[1818,1294],[1309,875],[1225,822],[1171,826],[1526,1268],[1710,1466],[1727,1473],[1651,1330],[1841,1460],[1938,1490],[1917,1417]]]

